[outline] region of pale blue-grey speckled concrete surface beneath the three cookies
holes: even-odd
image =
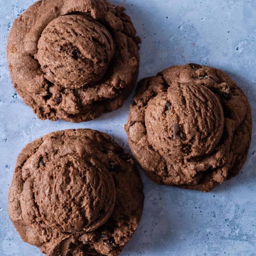
[[[0,256],[42,255],[23,243],[7,213],[7,193],[21,149],[47,132],[92,128],[112,135],[129,152],[124,106],[82,124],[40,121],[16,94],[5,48],[14,18],[33,0],[0,0]],[[221,68],[249,97],[256,115],[255,0],[115,0],[124,5],[142,38],[140,78],[174,64]],[[255,127],[254,118],[254,127]],[[122,255],[256,255],[256,132],[240,175],[204,194],[157,186],[141,172],[145,207],[137,232]]]

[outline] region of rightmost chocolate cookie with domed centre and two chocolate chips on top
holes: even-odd
[[[223,71],[173,66],[140,81],[133,100],[125,131],[156,183],[207,192],[243,167],[251,108]]]

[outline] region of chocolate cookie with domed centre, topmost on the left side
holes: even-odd
[[[120,108],[136,83],[140,38],[106,0],[43,0],[14,21],[12,82],[40,119],[84,122]]]

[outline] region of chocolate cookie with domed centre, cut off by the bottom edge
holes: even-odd
[[[52,132],[18,156],[9,215],[48,256],[115,256],[138,227],[142,190],[132,158],[107,134]]]

